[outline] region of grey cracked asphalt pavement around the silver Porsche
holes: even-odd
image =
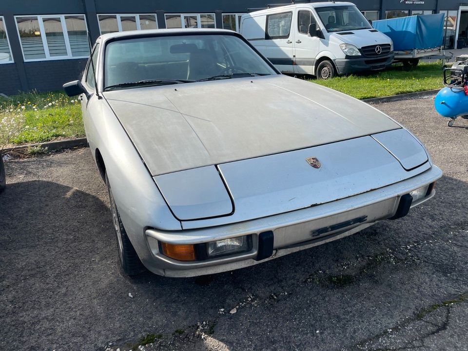
[[[234,272],[123,275],[89,149],[12,160],[0,195],[0,350],[468,350],[468,120],[375,105],[444,176],[408,216]],[[144,340],[142,340],[144,339]]]

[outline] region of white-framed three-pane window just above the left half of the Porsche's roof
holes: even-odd
[[[156,15],[98,15],[101,34],[125,32],[129,30],[157,29]]]

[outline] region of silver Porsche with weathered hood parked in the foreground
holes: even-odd
[[[281,75],[237,33],[99,37],[80,81],[120,263],[165,276],[264,262],[407,215],[441,170],[398,122]]]

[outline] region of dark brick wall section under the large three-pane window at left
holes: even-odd
[[[87,59],[24,62],[29,86],[38,91],[61,90],[62,85],[81,78]]]

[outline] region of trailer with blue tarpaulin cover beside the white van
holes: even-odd
[[[393,41],[393,62],[401,62],[409,70],[420,59],[452,58],[446,55],[443,46],[444,18],[444,14],[418,15],[373,21],[372,25]]]

